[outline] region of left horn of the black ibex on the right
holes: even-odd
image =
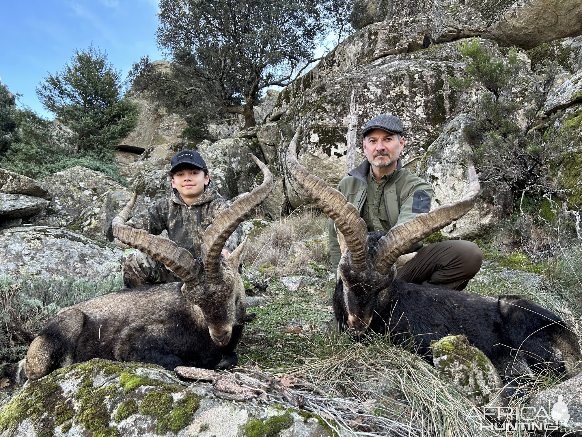
[[[366,256],[368,253],[368,228],[360,213],[347,199],[335,188],[321,178],[310,174],[297,160],[297,140],[301,132],[301,126],[297,128],[295,136],[289,143],[287,151],[287,168],[293,179],[303,188],[320,209],[335,223],[339,232],[342,232],[348,248],[350,267],[362,272],[366,269]]]

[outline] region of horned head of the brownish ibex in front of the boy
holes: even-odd
[[[236,227],[249,218],[255,208],[267,198],[274,182],[271,172],[251,154],[264,176],[260,186],[237,199],[229,208],[219,213],[203,234],[201,259],[194,259],[189,251],[175,242],[147,231],[125,225],[136,201],[137,193],[127,206],[113,219],[113,235],[123,244],[147,253],[163,263],[184,281],[182,294],[194,305],[192,311],[201,311],[212,341],[226,346],[233,326],[244,317],[244,287],[241,277],[248,238],[228,258],[221,258],[226,239]],[[199,308],[199,309],[198,309]],[[176,320],[179,323],[179,320]]]

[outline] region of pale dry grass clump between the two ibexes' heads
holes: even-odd
[[[247,251],[247,265],[251,270],[269,270],[277,276],[318,276],[314,267],[315,270],[321,270],[318,266],[331,268],[328,239],[317,238],[327,231],[328,220],[324,214],[307,210],[258,230]],[[308,241],[310,238],[314,239]],[[306,244],[297,245],[301,241]]]

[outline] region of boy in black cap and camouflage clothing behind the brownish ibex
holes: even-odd
[[[179,151],[170,165],[172,195],[150,206],[145,213],[136,214],[125,224],[154,235],[166,230],[169,239],[196,258],[201,254],[204,231],[214,217],[232,203],[222,198],[214,188],[206,163],[197,151]],[[230,255],[242,237],[239,225],[226,240],[222,254]],[[162,263],[133,248],[123,253],[121,272],[127,288],[180,280]]]

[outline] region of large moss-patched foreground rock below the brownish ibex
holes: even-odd
[[[155,365],[96,359],[59,369],[0,408],[0,436],[338,435],[313,413],[245,402],[258,397],[244,387],[259,382],[250,376],[176,371],[198,382],[184,383]]]

